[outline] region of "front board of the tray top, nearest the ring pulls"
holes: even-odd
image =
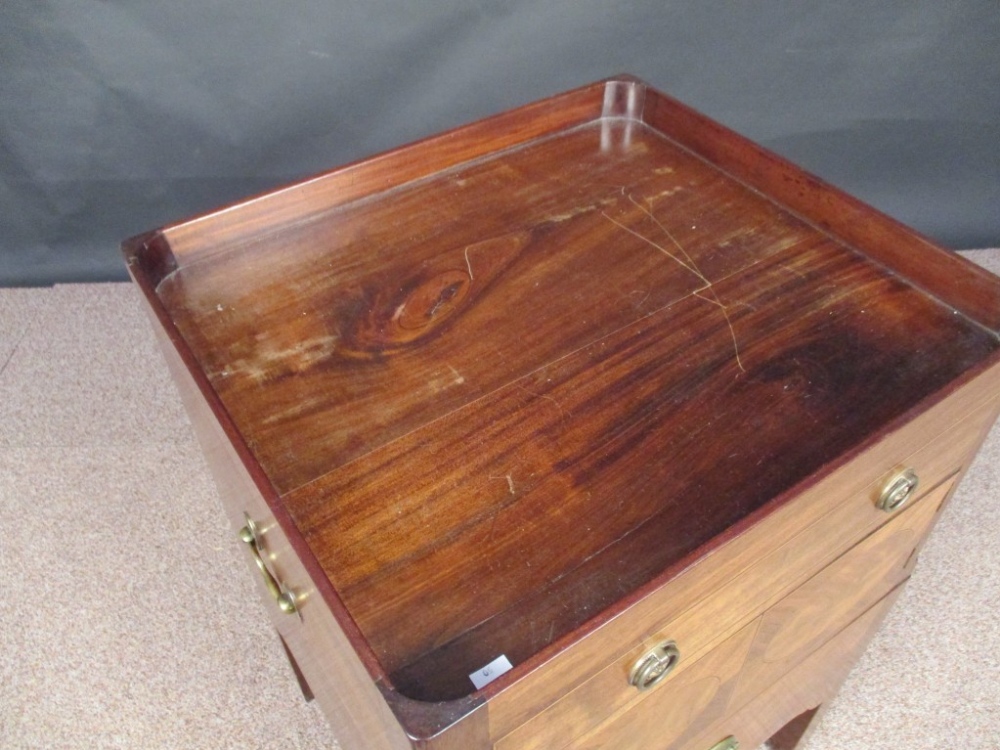
[[[798,281],[764,262],[755,270]],[[825,270],[826,278],[843,278]],[[768,313],[770,295],[789,300],[795,288],[767,285],[760,296],[736,298],[760,311],[732,316],[745,377],[724,320],[712,320],[713,328],[691,341],[708,321],[703,303],[689,299],[670,308],[669,324],[666,315],[651,316],[640,330],[564,358],[290,494],[299,527],[325,551],[321,563],[387,668],[447,644],[526,591],[583,574],[581,564],[599,556],[605,572],[591,575],[596,566],[587,566],[573,609],[549,623],[529,619],[542,632],[504,651],[526,655],[546,634],[551,641],[581,624],[831,460],[849,447],[854,430],[868,429],[867,420],[891,419],[909,406],[881,389],[866,397],[886,364],[875,365],[886,339],[869,344],[864,333],[841,328],[847,308],[831,303],[803,313],[801,327]],[[733,299],[726,282],[716,289]],[[873,302],[865,314],[893,313]],[[917,328],[906,314],[898,325]],[[923,345],[933,346],[934,335],[922,333]],[[947,336],[949,346],[958,342],[953,332]],[[758,341],[789,348],[760,361]],[[837,373],[824,356],[857,369]],[[687,357],[700,365],[687,366]],[[965,366],[959,357],[951,361]],[[902,376],[907,366],[901,359],[890,368]],[[838,374],[845,379],[836,381]],[[910,398],[907,388],[890,392]],[[747,401],[760,411],[737,416]],[[851,404],[847,414],[840,413],[844,403]],[[724,429],[713,429],[720,424]],[[716,429],[726,440],[713,442]],[[435,456],[448,459],[441,465]],[[553,538],[560,544],[548,543]],[[396,628],[418,603],[433,619],[410,615],[412,627]],[[477,666],[452,664],[463,675]]]

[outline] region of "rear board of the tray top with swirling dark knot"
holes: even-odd
[[[706,279],[822,239],[651,132],[606,153],[606,131],[618,142],[624,127],[577,128],[283,228],[161,285],[279,491],[599,341]],[[691,228],[699,221],[700,232]]]

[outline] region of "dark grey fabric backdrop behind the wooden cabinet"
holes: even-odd
[[[0,285],[618,72],[952,247],[1000,245],[1000,4],[4,0]]]

